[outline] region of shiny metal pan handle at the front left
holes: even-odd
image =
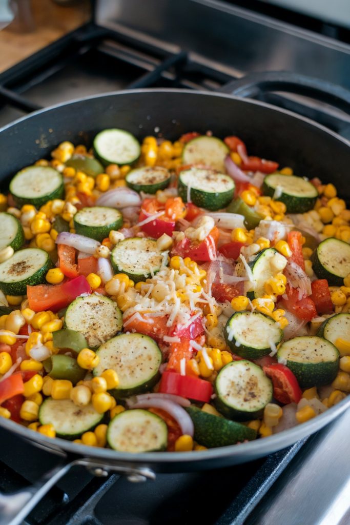
[[[58,465],[30,487],[12,494],[0,493],[0,525],[20,525],[50,488],[72,467],[76,466],[86,467],[91,474],[98,477],[107,477],[110,472],[124,474],[129,481],[134,483],[155,479],[155,473],[148,467],[129,467],[121,464],[105,465],[102,461],[89,458],[75,459],[65,465]]]

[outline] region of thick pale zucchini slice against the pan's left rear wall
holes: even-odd
[[[49,166],[29,166],[19,171],[10,182],[9,191],[17,206],[33,204],[36,208],[65,194],[62,175]]]

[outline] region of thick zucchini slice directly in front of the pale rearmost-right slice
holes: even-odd
[[[183,170],[178,179],[178,194],[187,202],[215,211],[226,208],[234,197],[235,183],[228,175],[215,170],[192,167]]]

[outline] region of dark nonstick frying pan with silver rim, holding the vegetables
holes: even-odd
[[[290,83],[290,82],[289,82]],[[275,87],[274,81],[273,86]],[[288,82],[284,87],[288,90]],[[234,86],[230,86],[232,90]],[[239,86],[240,88],[240,86]],[[241,88],[240,88],[241,89]],[[350,94],[328,90],[328,102],[350,110]],[[161,133],[167,139],[188,131],[212,130],[218,137],[238,135],[249,151],[291,166],[298,175],[333,182],[345,199],[350,196],[350,143],[320,124],[269,104],[231,95],[177,89],[141,89],[108,93],[59,104],[30,114],[0,130],[0,180],[48,157],[63,140],[91,145],[104,128],[123,128],[142,139]],[[51,450],[61,465],[39,484],[10,496],[0,495],[0,525],[22,522],[45,492],[72,466],[84,465],[96,475],[123,472],[131,481],[152,479],[155,472],[179,472],[224,467],[285,448],[321,427],[350,406],[350,396],[309,422],[268,438],[195,453],[117,453],[107,448],[50,439],[4,418],[0,426]],[[1,429],[0,429],[1,431]]]

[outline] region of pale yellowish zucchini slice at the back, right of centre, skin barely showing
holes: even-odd
[[[182,162],[183,164],[203,164],[225,173],[225,158],[228,153],[229,149],[225,142],[217,137],[202,135],[185,144]]]

